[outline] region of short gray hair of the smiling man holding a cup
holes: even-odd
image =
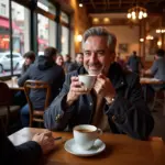
[[[95,26],[88,29],[82,36],[82,46],[89,36],[105,36],[107,37],[107,46],[110,48],[112,53],[116,52],[117,37],[114,34],[108,32],[102,26]]]

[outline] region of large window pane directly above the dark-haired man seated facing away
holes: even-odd
[[[45,47],[56,47],[56,23],[42,14],[37,14],[37,43],[38,55],[44,52]]]

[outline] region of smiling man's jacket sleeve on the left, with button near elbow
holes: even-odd
[[[63,89],[44,112],[44,125],[50,130],[64,130],[74,114],[74,105],[66,108],[70,76],[66,75]]]

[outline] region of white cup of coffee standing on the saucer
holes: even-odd
[[[90,150],[100,134],[102,130],[95,125],[81,124],[74,128],[74,140],[80,150]]]

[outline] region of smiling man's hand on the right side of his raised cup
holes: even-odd
[[[94,87],[97,95],[101,95],[109,102],[112,97],[116,96],[116,90],[110,81],[105,75],[100,74],[97,76],[97,81]]]

